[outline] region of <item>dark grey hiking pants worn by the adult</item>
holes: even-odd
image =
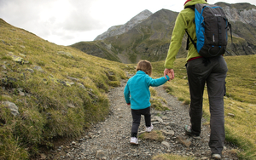
[[[205,83],[210,106],[210,141],[212,153],[221,154],[224,148],[224,94],[225,77],[228,71],[223,56],[210,59],[207,66],[204,58],[191,60],[187,63],[189,79],[190,107],[189,117],[192,134],[201,134],[202,102]]]

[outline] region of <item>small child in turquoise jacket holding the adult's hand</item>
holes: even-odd
[[[157,87],[166,83],[171,74],[165,77],[153,79],[151,76],[152,66],[148,60],[141,60],[137,64],[136,75],[131,77],[125,86],[125,101],[128,106],[131,105],[132,127],[131,127],[131,145],[138,145],[137,130],[140,125],[141,115],[145,117],[146,132],[154,129],[151,124],[150,114],[150,92],[149,86]]]

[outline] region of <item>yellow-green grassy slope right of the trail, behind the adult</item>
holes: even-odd
[[[242,159],[256,159],[256,55],[225,57],[229,71],[224,97],[226,140],[240,146]],[[189,86],[185,59],[175,61],[175,78],[167,83],[169,94],[189,104]],[[153,63],[154,76],[162,76],[164,62]],[[204,117],[209,120],[207,89],[204,93]]]

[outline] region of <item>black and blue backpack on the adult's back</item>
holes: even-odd
[[[215,57],[226,52],[228,44],[228,30],[232,39],[231,25],[224,14],[224,10],[213,4],[197,3],[186,8],[195,11],[195,33],[197,43],[189,36],[187,50],[189,49],[189,39],[194,44],[195,49],[205,58]]]

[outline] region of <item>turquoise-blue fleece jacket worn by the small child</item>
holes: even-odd
[[[166,75],[153,79],[149,77],[144,71],[137,71],[136,75],[131,77],[125,86],[125,101],[127,104],[131,103],[131,109],[141,110],[151,106],[149,86],[157,87],[166,83],[170,78]]]

